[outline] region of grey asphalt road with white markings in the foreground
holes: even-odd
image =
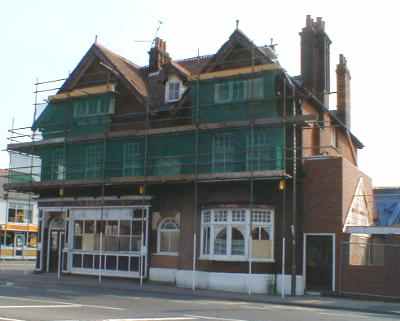
[[[14,264],[15,266],[12,266]],[[5,267],[6,266],[6,267]],[[26,273],[29,265],[2,264],[0,274]],[[285,306],[182,298],[84,286],[32,287],[10,282],[0,286],[0,321],[314,321],[398,320],[395,316]]]

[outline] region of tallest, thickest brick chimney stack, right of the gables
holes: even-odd
[[[321,17],[315,21],[307,15],[301,37],[301,75],[304,86],[329,107],[331,41]]]

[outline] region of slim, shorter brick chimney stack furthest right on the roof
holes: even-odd
[[[351,125],[350,80],[351,76],[349,69],[347,69],[347,60],[341,54],[339,55],[339,64],[336,67],[337,114],[349,129]]]

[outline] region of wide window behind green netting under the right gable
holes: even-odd
[[[264,98],[264,78],[224,80],[214,86],[214,102],[224,104]]]

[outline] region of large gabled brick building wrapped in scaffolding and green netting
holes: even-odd
[[[11,174],[35,164],[7,189],[38,195],[37,270],[336,291],[343,227],[371,219],[372,199],[357,196],[371,181],[346,59],[329,110],[324,21],[308,16],[300,38],[296,77],[239,29],[183,60],[156,38],[144,67],[94,43],[38,113],[35,139],[8,145]]]

